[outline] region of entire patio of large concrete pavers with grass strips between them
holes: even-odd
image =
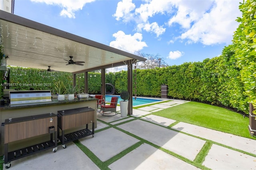
[[[188,101],[172,101],[174,105],[186,102]],[[162,105],[157,104],[152,107],[161,109]],[[140,110],[134,109],[132,117],[124,118],[120,117],[120,114],[113,117],[98,114],[97,118],[100,121],[97,122],[95,130],[99,131],[96,131],[93,138],[87,136],[80,139],[80,143],[102,161],[102,164],[113,160],[107,164],[108,167],[105,167],[111,170],[199,170],[202,166],[217,170],[256,170],[256,140],[182,122],[170,128],[168,126],[175,120],[152,115],[153,111],[144,109],[143,107]],[[204,161],[200,163],[201,168],[197,168],[193,162],[207,140],[214,141],[214,143],[210,146]],[[76,144],[70,142],[66,146],[67,148],[64,149],[59,145],[56,153],[46,150],[14,160],[10,169],[100,169],[97,163],[94,163],[91,157],[80,150]],[[232,148],[239,149],[241,152]],[[122,155],[122,152],[127,154],[117,156]],[[92,157],[92,159],[95,158]],[[184,160],[192,163],[189,164]]]

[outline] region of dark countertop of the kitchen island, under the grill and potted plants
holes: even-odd
[[[74,100],[68,100],[65,99],[64,101],[58,101],[58,99],[52,99],[51,102],[42,102],[42,103],[31,103],[31,104],[18,104],[18,105],[0,105],[0,111],[2,110],[8,110],[8,109],[22,109],[22,108],[29,108],[29,107],[41,107],[41,106],[49,106],[49,105],[63,105],[63,104],[70,104],[75,102],[86,102],[86,101],[96,101],[97,99],[94,99],[92,97],[89,97],[87,99],[74,99]]]

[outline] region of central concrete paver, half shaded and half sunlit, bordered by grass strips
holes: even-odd
[[[205,143],[204,140],[140,120],[119,125],[118,128],[122,128],[190,160],[196,158]]]

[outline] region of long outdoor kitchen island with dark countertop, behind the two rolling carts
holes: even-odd
[[[94,128],[97,127],[96,124],[96,101],[94,98],[87,99],[74,99],[72,101],[58,101],[57,99],[52,99],[51,102],[35,103],[35,104],[20,104],[20,105],[1,105],[0,106],[0,121],[2,126],[0,126],[1,144],[0,144],[0,154],[4,154],[4,122],[6,119],[22,118],[28,116],[42,115],[46,113],[58,114],[58,111],[68,110],[68,109],[78,109],[82,107],[89,107],[94,110]],[[57,127],[55,127],[57,128]],[[84,129],[84,126],[75,127],[65,130],[65,133],[73,132],[76,130]],[[89,123],[88,128],[92,128],[92,123]],[[47,138],[50,140],[49,134],[42,134],[40,136],[25,138],[22,140],[14,141],[9,143],[9,150],[16,150],[19,148],[24,148],[31,146],[34,143],[44,142]]]

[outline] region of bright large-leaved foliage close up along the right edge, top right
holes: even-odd
[[[256,107],[256,0],[244,0],[239,9],[242,17],[237,19],[241,24],[234,34],[234,51],[248,101]]]

